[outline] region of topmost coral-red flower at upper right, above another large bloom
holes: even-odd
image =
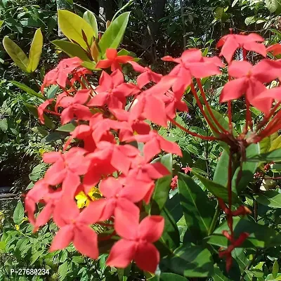
[[[237,48],[254,51],[266,57],[266,46],[258,43],[263,41],[263,37],[255,33],[251,33],[249,35],[228,34],[218,41],[216,47],[222,47],[220,55],[223,55],[224,58],[226,58],[226,61],[230,63],[231,60],[233,60],[233,55]]]

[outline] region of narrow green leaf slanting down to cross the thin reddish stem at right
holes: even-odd
[[[195,174],[197,178],[203,183],[204,187],[209,190],[213,195],[218,198],[221,198],[224,202],[228,202],[228,190],[223,185],[210,181],[208,178],[204,178],[200,174],[197,174],[195,171],[192,171],[192,174]],[[235,192],[232,192],[233,202],[239,202],[239,199]]]

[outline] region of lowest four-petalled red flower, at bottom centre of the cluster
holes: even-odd
[[[159,240],[163,233],[164,218],[147,216],[138,223],[138,217],[129,216],[126,220],[115,221],[115,230],[122,239],[110,250],[107,266],[125,268],[134,260],[139,268],[154,273],[160,256],[152,243]]]

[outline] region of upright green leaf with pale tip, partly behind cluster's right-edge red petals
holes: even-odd
[[[170,174],[168,176],[164,176],[159,178],[155,184],[155,190],[152,195],[152,200],[150,203],[150,209],[148,214],[159,214],[163,209],[166,200],[169,197],[169,191],[171,190],[171,177],[172,177],[172,169],[173,169],[173,159],[171,154],[164,155],[161,158],[157,158],[154,161],[161,162],[166,169],[169,170]]]

